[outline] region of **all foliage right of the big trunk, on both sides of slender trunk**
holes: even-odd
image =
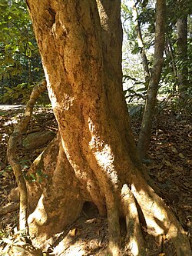
[[[148,67],[153,66],[154,52],[154,25],[155,25],[155,2],[135,1],[137,6],[137,20],[141,27],[141,34],[144,41],[144,49],[147,55]],[[137,33],[134,25],[133,10],[130,2],[122,1],[122,19],[124,28],[124,95],[127,102],[141,101],[147,95],[144,85],[144,71],[141,66],[141,48],[137,43]],[[192,94],[192,5],[190,0],[168,0],[167,1],[167,25],[166,43],[164,49],[164,67],[161,73],[159,94],[169,97],[173,101],[173,108],[177,111],[187,110],[191,105]],[[178,53],[177,48],[177,19],[187,17],[187,59]],[[126,48],[125,48],[126,47]],[[130,54],[131,52],[131,54]],[[127,60],[128,58],[128,60]],[[137,61],[136,61],[137,60]],[[151,61],[152,60],[152,61]],[[186,80],[188,81],[184,95],[179,95],[180,84],[178,82],[178,71],[187,70]],[[141,91],[140,91],[141,90]],[[176,96],[177,95],[177,96]],[[184,98],[184,100],[181,100]],[[144,102],[144,101],[142,101]]]

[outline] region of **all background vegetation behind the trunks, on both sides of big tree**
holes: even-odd
[[[0,104],[23,104],[28,100],[31,88],[44,77],[41,57],[25,1],[2,0],[0,7]],[[190,0],[167,1],[164,67],[158,99],[166,98],[177,113],[191,110],[191,9]],[[147,57],[150,75],[154,60],[155,2],[124,0],[121,17],[124,29],[124,94],[127,103],[136,101],[143,104],[147,95],[147,81],[141,54],[144,52]],[[180,21],[183,26],[178,28]],[[143,45],[138,40],[137,25],[141,29]],[[41,103],[43,101],[45,99]],[[44,103],[48,103],[48,100]],[[135,110],[131,108],[132,113]]]

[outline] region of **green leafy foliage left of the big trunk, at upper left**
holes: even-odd
[[[43,78],[41,58],[25,1],[2,0],[0,7],[0,103],[24,103]]]

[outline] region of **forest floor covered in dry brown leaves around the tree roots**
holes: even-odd
[[[0,108],[0,212],[10,204],[10,191],[16,187],[12,168],[6,158],[6,146],[9,135],[22,118],[24,108]],[[132,128],[137,140],[141,125],[141,116],[131,118]],[[192,120],[187,115],[174,115],[164,109],[154,118],[151,138],[151,161],[147,168],[151,178],[161,189],[162,198],[174,211],[180,224],[187,232],[190,242],[192,236]],[[36,131],[57,131],[54,115],[49,108],[36,108],[28,126],[28,133]],[[23,137],[25,138],[26,135]],[[27,171],[31,162],[45,149],[46,145],[26,150],[22,143],[18,145],[18,159],[22,170]],[[12,200],[14,201],[14,199]],[[15,200],[16,201],[16,200]],[[0,214],[0,254],[5,248],[6,238],[14,237],[18,227],[18,210]],[[146,238],[148,239],[148,238]],[[60,242],[55,246],[55,256],[107,256],[108,224],[106,218],[100,218],[91,204],[85,204],[80,218],[61,234]],[[166,241],[154,240],[154,246],[148,248],[147,256],[174,256],[174,250]],[[125,248],[122,255],[130,255]],[[15,255],[14,255],[15,256]]]

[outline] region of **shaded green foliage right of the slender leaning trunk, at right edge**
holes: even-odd
[[[190,98],[192,96],[192,48],[191,48],[191,20],[192,5],[188,0],[180,2],[169,0],[167,2],[167,28],[164,68],[161,75],[163,87],[161,91],[170,95],[174,111],[190,111]],[[178,49],[177,19],[187,18],[187,52]],[[183,42],[184,44],[184,42]],[[178,76],[184,71],[185,84],[180,84]],[[182,94],[180,94],[182,86]]]

